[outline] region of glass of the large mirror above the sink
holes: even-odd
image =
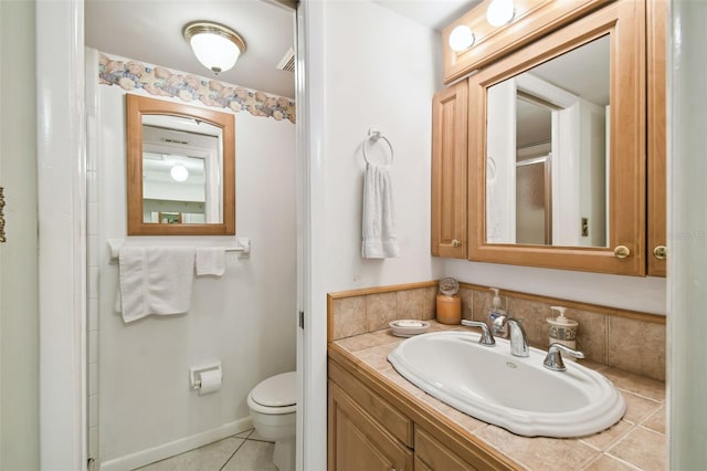
[[[609,35],[487,90],[487,243],[608,247],[609,107]]]

